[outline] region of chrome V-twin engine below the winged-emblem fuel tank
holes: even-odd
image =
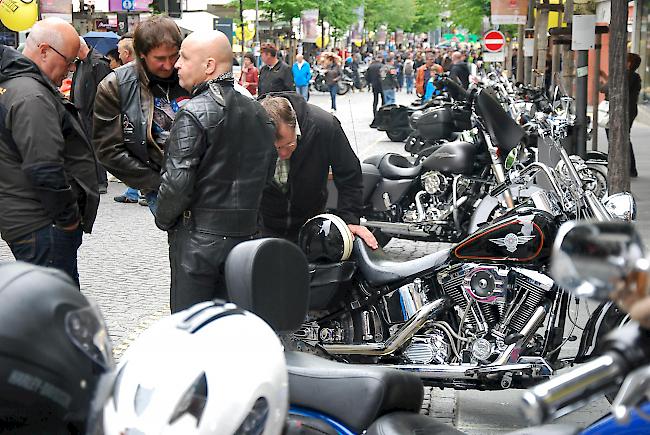
[[[442,291],[453,301],[458,329],[447,322],[433,322],[423,338],[413,340],[404,352],[412,363],[456,361],[488,363],[517,337],[553,289],[547,276],[524,268],[461,263],[437,276]],[[428,344],[430,352],[425,351]]]

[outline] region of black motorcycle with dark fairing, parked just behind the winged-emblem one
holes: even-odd
[[[458,85],[450,86],[465,92]],[[391,237],[462,240],[469,234],[477,204],[492,185],[505,180],[501,156],[520,144],[523,129],[486,92],[472,94],[467,105],[469,108],[458,111],[448,106],[428,109],[431,134],[442,137],[458,125],[464,129],[475,126],[476,130],[456,141],[437,144],[421,163],[412,164],[389,153],[362,164],[364,225],[382,245]],[[507,200],[512,208],[512,199],[508,196]]]

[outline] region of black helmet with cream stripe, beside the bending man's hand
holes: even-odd
[[[300,228],[298,243],[310,262],[336,263],[352,254],[354,236],[347,224],[333,214],[319,214]]]

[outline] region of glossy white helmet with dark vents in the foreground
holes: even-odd
[[[288,404],[273,330],[234,304],[212,301],[160,320],[131,345],[103,425],[106,435],[277,435]]]

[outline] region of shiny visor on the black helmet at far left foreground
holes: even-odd
[[[94,302],[68,312],[65,316],[65,331],[70,341],[100,367],[110,370],[115,366],[111,339]]]

